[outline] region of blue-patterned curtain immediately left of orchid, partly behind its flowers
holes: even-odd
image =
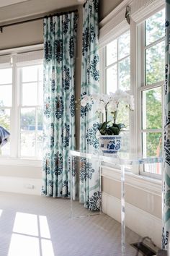
[[[87,0],[84,5],[81,98],[84,95],[99,93],[98,7],[98,0]],[[81,106],[80,150],[83,153],[97,151],[97,121],[94,108],[89,105]],[[98,163],[81,157],[79,195],[85,208],[99,210],[99,187]]]

